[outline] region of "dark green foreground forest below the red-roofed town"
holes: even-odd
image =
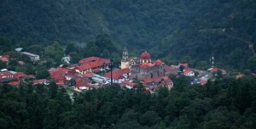
[[[0,87],[0,128],[249,129],[256,124],[256,78],[224,78],[206,86],[175,81],[171,91],[103,87],[69,98],[54,83]]]

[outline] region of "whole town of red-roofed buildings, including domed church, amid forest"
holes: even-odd
[[[44,64],[45,60],[40,60],[40,56],[34,53],[22,52],[22,48],[16,48],[16,52],[26,56],[33,63]],[[74,92],[84,92],[99,87],[108,87],[118,84],[119,87],[131,89],[142,84],[145,92],[154,93],[160,87],[166,87],[172,90],[172,81],[181,76],[189,77],[190,84],[204,86],[208,80],[214,81],[220,76],[230,76],[226,70],[214,66],[214,57],[210,58],[211,68],[208,70],[195,70],[189,67],[186,62],[177,65],[167,65],[160,59],[151,59],[149,52],[144,51],[140,56],[129,57],[128,49],[124,48],[119,68],[113,67],[112,59],[102,59],[100,57],[90,56],[80,59],[77,64],[70,64],[73,58],[67,55],[61,59],[59,67],[48,70],[49,77],[36,79],[37,75],[26,75],[20,71],[2,69],[0,72],[0,85],[8,83],[10,86],[20,86],[22,83],[32,85],[49,85],[54,82],[55,85],[65,87]],[[9,65],[10,56],[4,54],[0,60]],[[47,62],[47,60],[46,60]],[[20,65],[26,64],[24,61],[17,62]],[[234,77],[241,78],[238,74]],[[255,76],[255,75],[254,75]]]

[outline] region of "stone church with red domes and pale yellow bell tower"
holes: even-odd
[[[129,68],[131,76],[141,81],[146,78],[165,76],[164,63],[160,59],[153,61],[151,55],[145,51],[139,58],[129,59],[128,50],[124,48],[121,69]]]

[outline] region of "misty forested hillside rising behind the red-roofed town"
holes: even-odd
[[[214,55],[221,67],[255,71],[255,8],[253,0],[3,0],[0,42],[87,43],[108,34],[119,51],[148,49],[154,59]]]

